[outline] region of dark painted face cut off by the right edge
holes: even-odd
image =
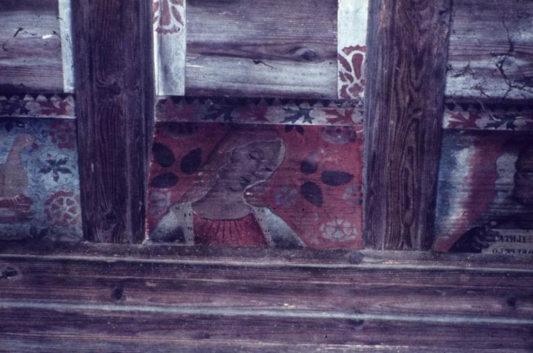
[[[516,160],[513,198],[525,206],[533,206],[533,147],[526,148]]]

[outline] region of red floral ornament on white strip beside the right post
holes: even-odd
[[[364,58],[366,46],[346,46],[338,55],[339,80],[341,87],[339,95],[343,99],[363,98],[364,91]]]

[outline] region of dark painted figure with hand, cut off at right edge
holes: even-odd
[[[498,229],[533,229],[533,144],[525,146],[515,163],[512,199],[515,212],[500,214],[492,221],[466,231],[450,248],[450,252],[482,252],[496,240]]]

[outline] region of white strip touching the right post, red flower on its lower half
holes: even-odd
[[[339,0],[337,15],[338,97],[362,99],[369,0]]]

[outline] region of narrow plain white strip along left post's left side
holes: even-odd
[[[74,93],[74,55],[72,52],[71,0],[58,1],[61,33],[61,56],[63,62],[63,92]]]

